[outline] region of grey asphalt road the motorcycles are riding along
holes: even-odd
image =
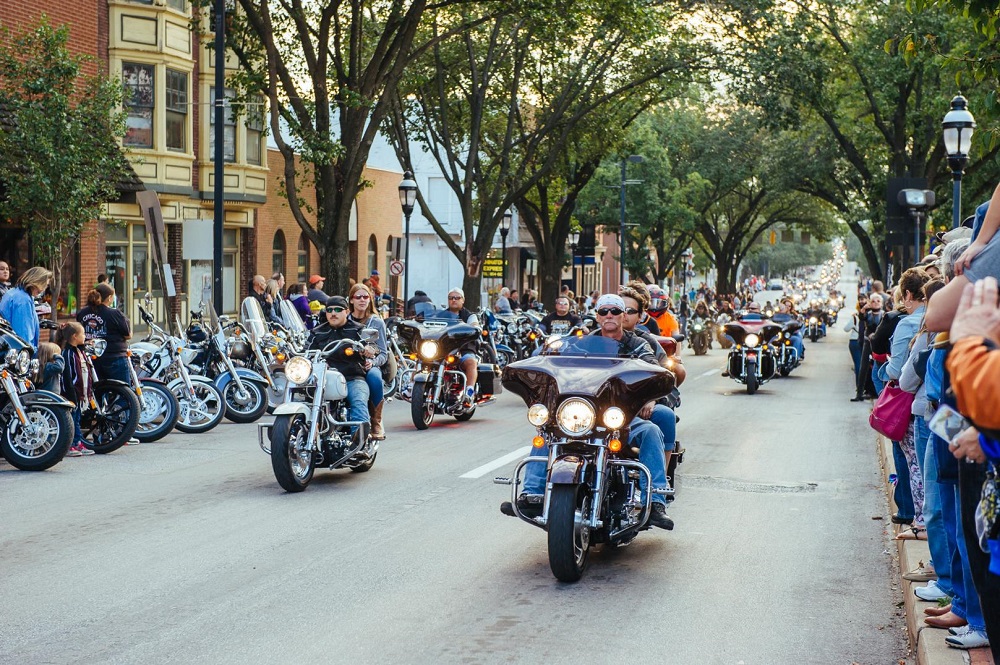
[[[370,472],[296,495],[228,422],[0,462],[0,663],[896,663],[867,408],[840,326],[807,348],[754,396],[718,346],[685,351],[677,527],[595,551],[574,585],[498,510],[498,461],[533,433],[509,394],[426,432],[391,403]]]

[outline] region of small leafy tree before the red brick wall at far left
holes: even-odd
[[[0,35],[0,111],[9,120],[0,124],[0,218],[27,229],[58,297],[65,257],[128,177],[118,145],[122,87],[84,76],[87,58],[69,51],[69,27],[53,27],[45,16],[24,32],[3,27]]]

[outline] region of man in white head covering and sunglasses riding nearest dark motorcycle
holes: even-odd
[[[597,322],[600,328],[591,334],[601,335],[618,342],[618,355],[621,357],[638,357],[640,360],[656,364],[656,357],[644,339],[635,333],[628,332],[623,327],[625,301],[621,296],[605,293],[597,300]],[[651,412],[654,402],[643,407],[643,412]],[[648,420],[636,417],[629,426],[629,445],[639,448],[639,461],[649,469],[654,488],[667,486],[667,469],[663,456],[663,434],[659,428]],[[532,447],[533,457],[548,456],[548,446]],[[517,507],[529,517],[537,517],[542,512],[543,492],[545,489],[545,465],[528,464],[524,471],[524,487],[517,497]],[[645,483],[643,483],[645,484]],[[643,499],[646,488],[643,487]],[[509,506],[501,504],[500,511],[513,514]],[[667,503],[663,496],[652,497],[649,524],[661,529],[673,529],[674,522],[667,516]]]

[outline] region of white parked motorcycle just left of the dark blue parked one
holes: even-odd
[[[153,322],[149,314],[151,304],[147,298],[145,307],[138,305],[139,316],[149,326],[149,335],[132,345],[136,375],[140,381],[152,378],[166,383],[167,390],[177,399],[178,416],[174,426],[179,431],[188,434],[207,432],[222,422],[226,415],[222,393],[205,377],[192,376],[188,372],[182,355],[187,354],[188,360],[191,360],[196,351],[187,348],[183,340],[169,335]],[[180,322],[176,323],[178,331],[182,331]]]

